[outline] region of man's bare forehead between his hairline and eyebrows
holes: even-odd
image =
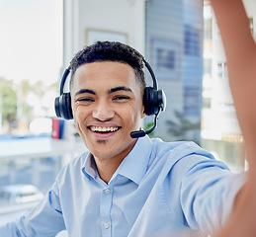
[[[73,76],[72,88],[95,86],[121,86],[139,88],[134,70],[126,63],[104,61],[81,65]]]

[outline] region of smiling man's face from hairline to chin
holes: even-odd
[[[133,69],[120,62],[93,62],[75,72],[71,88],[75,126],[96,159],[122,161],[136,139],[143,114]]]

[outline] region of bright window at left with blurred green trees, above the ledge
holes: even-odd
[[[0,139],[50,135],[62,64],[62,1],[0,1]]]

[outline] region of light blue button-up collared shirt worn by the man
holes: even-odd
[[[211,233],[245,182],[193,142],[139,138],[109,184],[87,152],[64,167],[43,201],[1,237],[156,237]]]

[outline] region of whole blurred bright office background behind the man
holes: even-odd
[[[243,2],[255,38],[256,1]],[[0,223],[37,203],[86,150],[53,103],[74,54],[96,40],[128,43],[152,66],[167,108],[150,136],[193,140],[234,172],[247,168],[210,1],[0,0],[0,32]]]

